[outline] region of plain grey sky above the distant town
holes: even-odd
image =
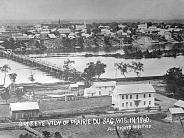
[[[184,19],[184,0],[0,0],[4,19]]]

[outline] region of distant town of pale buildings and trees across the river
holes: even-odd
[[[123,49],[127,58],[175,57],[183,54],[180,46],[173,50],[151,49],[150,45],[183,42],[181,23],[58,23],[2,26],[1,49],[10,49],[18,54],[115,51]],[[142,45],[147,45],[147,49]],[[123,53],[120,53],[123,54]],[[90,55],[86,55],[90,56]],[[113,55],[117,56],[118,55]],[[121,56],[121,55],[119,55]]]

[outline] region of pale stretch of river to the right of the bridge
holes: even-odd
[[[139,61],[144,64],[144,71],[141,76],[159,76],[164,75],[166,70],[172,67],[184,67],[184,56],[173,57],[163,57],[163,58],[153,58],[153,59],[118,59],[114,57],[47,57],[39,58],[40,60],[47,61],[49,63],[54,63],[62,66],[64,61],[67,59],[75,61],[73,67],[78,71],[83,72],[84,68],[87,67],[87,63],[96,62],[100,60],[102,63],[107,65],[105,73],[101,75],[102,78],[122,78],[121,72],[116,70],[114,67],[115,63],[131,63],[132,61]],[[134,72],[128,72],[127,77],[136,77]]]

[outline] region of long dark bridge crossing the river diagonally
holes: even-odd
[[[37,58],[31,58],[26,55],[18,55],[11,51],[0,50],[0,56],[30,67],[36,67],[41,71],[47,72],[48,74],[55,76],[56,78],[59,79],[65,78],[65,73],[62,66],[51,64],[49,62]],[[67,75],[68,77],[72,77],[73,73],[70,72]]]

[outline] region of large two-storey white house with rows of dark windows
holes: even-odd
[[[118,85],[112,94],[112,105],[119,110],[154,107],[154,93],[151,84]]]

